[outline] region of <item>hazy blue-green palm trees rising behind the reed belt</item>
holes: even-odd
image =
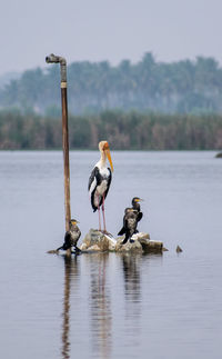
[[[59,66],[26,71],[0,90],[0,107],[58,117],[59,83]],[[148,52],[138,63],[123,60],[117,67],[108,61],[73,62],[68,67],[68,90],[73,114],[110,109],[222,113],[222,68],[213,58],[165,63]]]

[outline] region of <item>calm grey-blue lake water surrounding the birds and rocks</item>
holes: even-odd
[[[222,160],[214,152],[112,152],[107,227],[139,196],[162,256],[48,255],[63,242],[62,152],[0,152],[0,358],[221,358]],[[70,153],[71,211],[98,228]],[[175,252],[176,246],[183,252]]]

